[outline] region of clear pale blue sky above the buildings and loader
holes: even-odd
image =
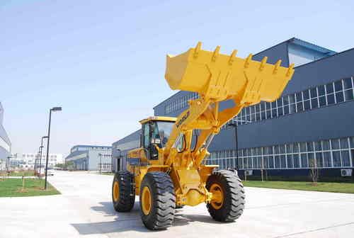
[[[0,1],[0,101],[12,152],[111,145],[173,94],[166,53],[245,57],[292,37],[354,47],[353,1]]]

